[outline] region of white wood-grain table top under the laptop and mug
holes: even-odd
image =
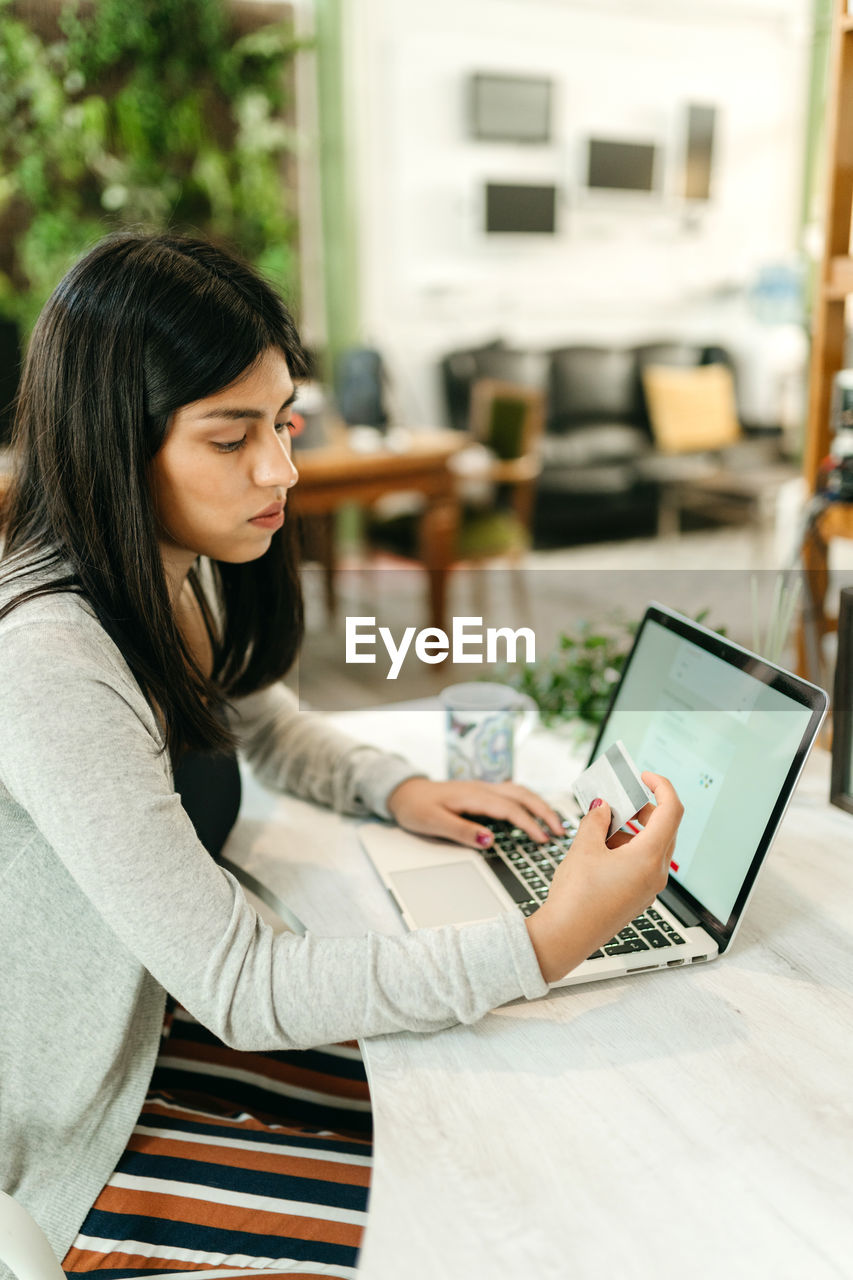
[[[337,717],[441,776],[432,710]],[[539,732],[520,781],[573,777]],[[853,1275],[853,823],[809,760],[731,951],[364,1044],[365,1280]],[[245,780],[227,855],[316,933],[401,932],[355,824]]]

